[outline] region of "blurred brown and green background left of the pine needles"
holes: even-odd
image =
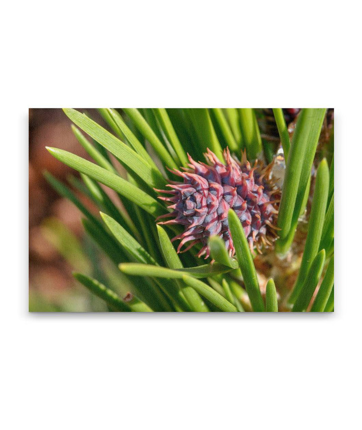
[[[104,124],[96,110],[87,112]],[[99,279],[111,281],[118,285],[120,293],[127,293],[127,288],[122,288],[122,275],[85,236],[79,210],[59,197],[44,179],[45,170],[62,182],[76,178],[76,172],[55,160],[45,146],[62,148],[89,159],[70,124],[61,109],[29,109],[30,311],[107,310],[101,299],[74,280],[73,270],[89,275],[96,270]],[[77,195],[89,210],[96,212],[89,200],[80,193]]]

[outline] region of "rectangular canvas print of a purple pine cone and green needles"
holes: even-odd
[[[333,109],[30,109],[29,310],[331,312]]]

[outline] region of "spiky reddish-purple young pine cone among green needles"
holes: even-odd
[[[198,253],[209,257],[208,238],[220,236],[229,251],[235,254],[235,248],[228,225],[229,208],[235,210],[244,228],[245,236],[251,251],[254,246],[267,248],[278,237],[275,219],[278,213],[280,190],[269,179],[272,164],[263,168],[262,163],[255,161],[253,167],[246,160],[244,152],[241,162],[230,156],[229,148],[224,150],[226,165],[207,149],[205,158],[208,164],[194,161],[189,157],[189,169],[185,172],[170,170],[184,179],[183,183],[170,181],[166,185],[171,190],[156,190],[171,194],[170,197],[158,197],[171,202],[168,206],[172,212],[158,217],[172,217],[172,220],[158,224],[179,224],[185,231],[174,237],[181,240],[177,252],[188,251],[197,243],[203,245]],[[273,195],[273,199],[272,199]],[[187,243],[187,248],[181,251]]]

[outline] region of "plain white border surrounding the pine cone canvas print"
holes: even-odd
[[[352,2],[7,4],[2,428],[357,428],[360,14]],[[27,109],[335,107],[336,312],[27,312]]]

